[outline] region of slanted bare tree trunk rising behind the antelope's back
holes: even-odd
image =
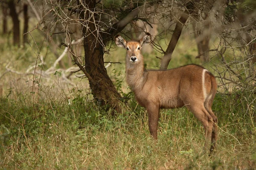
[[[177,45],[177,42],[180,38],[180,34],[182,32],[183,25],[186,23],[186,20],[189,18],[188,12],[185,12],[181,15],[180,19],[177,21],[175,29],[172,34],[172,38],[169,42],[169,45],[165,51],[165,54],[163,56],[160,69],[166,70],[169,62],[172,59],[172,53],[175,49],[175,46]]]

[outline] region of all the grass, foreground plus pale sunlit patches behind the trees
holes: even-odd
[[[184,41],[185,37],[177,44],[169,68],[200,64],[192,57],[197,55],[195,41]],[[46,46],[40,54],[47,57],[45,67],[49,68],[55,57]],[[29,46],[23,49],[3,45],[0,51],[3,54],[0,75],[5,73],[9,62],[10,68],[24,73],[36,60]],[[107,68],[122,94],[129,92],[124,55],[124,50],[116,48],[105,58],[105,61],[122,62]],[[159,66],[155,57],[159,55],[144,54],[147,68]],[[210,64],[205,67],[211,69]],[[42,67],[38,71],[39,68]],[[7,72],[0,80],[3,89],[0,92],[0,170],[249,170],[256,167],[256,94],[253,91],[233,89],[233,93],[216,95],[213,111],[218,117],[218,145],[209,158],[201,154],[204,129],[186,108],[161,111],[155,143],[148,130],[147,113],[137,105],[134,96],[122,114],[111,116],[111,111],[99,108],[91,100],[84,79],[71,77],[70,83],[64,82],[61,74],[34,77],[31,73],[24,76]]]

